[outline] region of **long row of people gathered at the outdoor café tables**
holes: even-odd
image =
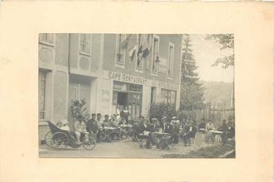
[[[122,117],[121,117],[122,116]],[[179,121],[176,117],[172,117],[168,120],[168,117],[162,117],[162,120],[157,118],[139,117],[139,120],[128,120],[129,114],[125,115],[104,115],[104,119],[101,119],[101,113],[92,113],[91,118],[88,121],[84,121],[83,117],[78,117],[78,120],[74,123],[74,129],[70,130],[68,122],[63,120],[57,123],[57,127],[62,130],[68,130],[77,139],[77,143],[81,143],[81,137],[88,133],[96,138],[97,142],[108,141],[117,137],[133,137],[133,141],[136,139],[144,139],[146,148],[159,148],[165,149],[169,144],[178,144],[179,139],[184,141],[184,146],[190,146],[191,140],[195,138],[197,131],[204,133],[205,142],[208,143],[213,140],[215,134],[211,131],[216,130],[213,122],[205,122],[204,119],[198,125],[198,129],[195,127],[193,121],[185,120]],[[222,126],[219,128],[222,131],[222,143],[226,144],[228,137],[235,135],[235,128],[232,126],[232,122],[226,124],[226,120],[222,122]],[[108,137],[106,137],[106,135]]]

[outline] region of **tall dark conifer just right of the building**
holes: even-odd
[[[194,111],[203,108],[204,88],[199,83],[198,73],[195,72],[195,58],[190,43],[190,36],[183,35],[182,49],[182,76],[181,76],[181,102],[180,109]]]

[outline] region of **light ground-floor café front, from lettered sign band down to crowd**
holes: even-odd
[[[111,114],[128,106],[129,119],[136,120],[139,115],[148,117],[153,102],[175,104],[177,109],[179,107],[179,84],[106,70],[103,75],[103,79],[110,83]]]

